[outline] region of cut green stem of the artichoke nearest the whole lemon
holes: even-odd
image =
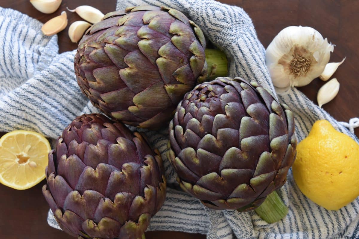
[[[255,211],[267,223],[275,223],[288,214],[288,207],[285,206],[278,193],[273,191]]]

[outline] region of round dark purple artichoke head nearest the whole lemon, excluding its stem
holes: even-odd
[[[219,77],[197,85],[169,125],[168,158],[183,190],[212,209],[255,209],[284,185],[294,117],[258,85]]]

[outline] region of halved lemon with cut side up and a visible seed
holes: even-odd
[[[41,134],[17,130],[0,138],[0,183],[24,190],[45,178],[50,143]]]

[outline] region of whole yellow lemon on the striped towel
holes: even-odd
[[[304,195],[338,210],[359,196],[359,144],[327,120],[318,120],[298,144],[292,171]]]

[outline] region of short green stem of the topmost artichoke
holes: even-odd
[[[217,49],[205,49],[207,76],[203,81],[211,81],[217,77],[225,77],[228,72],[228,61],[224,52]],[[200,82],[199,82],[200,83]]]

